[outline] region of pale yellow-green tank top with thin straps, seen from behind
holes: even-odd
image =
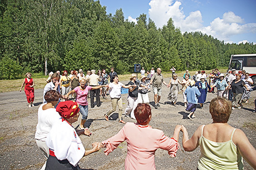
[[[243,158],[232,141],[235,129],[229,141],[213,142],[203,136],[204,126],[199,138],[201,155],[198,169],[243,169]]]

